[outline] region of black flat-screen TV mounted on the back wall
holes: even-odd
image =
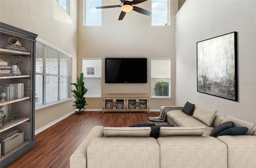
[[[105,83],[147,83],[147,59],[106,58]]]

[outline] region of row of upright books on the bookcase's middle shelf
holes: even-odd
[[[0,92],[6,93],[5,101],[23,98],[24,83],[3,84]]]

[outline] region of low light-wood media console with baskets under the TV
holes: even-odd
[[[149,111],[149,94],[103,94],[102,113],[107,111]]]

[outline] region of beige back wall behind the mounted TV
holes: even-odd
[[[103,0],[102,6],[119,5],[118,0]],[[151,0],[137,4],[151,11]],[[102,26],[83,26],[83,1],[78,2],[78,74],[82,72],[82,58],[102,58],[102,94],[150,94],[150,59],[171,58],[171,78],[175,79],[175,14],[178,1],[170,1],[170,26],[151,26],[151,16],[135,11],[118,21],[120,8],[102,9]],[[106,57],[146,57],[148,59],[147,84],[105,84]],[[151,99],[150,109],[175,104],[175,80],[171,82],[172,99]],[[102,109],[101,99],[86,99],[86,109]]]

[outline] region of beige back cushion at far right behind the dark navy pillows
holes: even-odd
[[[222,123],[226,121],[233,121],[234,123],[233,127],[247,127],[248,131],[244,135],[252,135],[254,129],[256,128],[255,124],[249,123],[242,119],[238,119],[236,117],[232,117],[231,115],[228,115],[228,114],[225,115],[224,119],[222,120]]]

